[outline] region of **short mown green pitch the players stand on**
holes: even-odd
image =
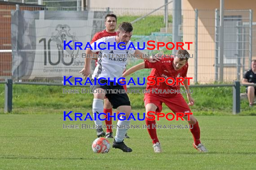
[[[62,129],[62,115],[0,115],[0,169],[255,169],[255,116],[197,116],[209,153],[192,147],[188,129],[158,129],[164,153],[153,152],[146,129],[129,129],[133,149],[93,153],[94,129]],[[116,124],[116,122],[114,122]],[[132,124],[144,124],[132,121]],[[186,124],[183,121],[158,124]],[[115,130],[114,130],[115,134]],[[113,140],[110,140],[112,143]]]

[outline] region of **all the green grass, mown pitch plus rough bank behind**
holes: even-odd
[[[94,129],[62,129],[63,111],[91,112],[91,94],[63,94],[62,86],[13,85],[13,112],[3,113],[4,85],[0,85],[0,170],[5,169],[255,169],[256,109],[241,101],[241,113],[232,115],[232,88],[193,88],[201,140],[209,153],[192,147],[189,129],[158,129],[164,153],[155,154],[146,129],[129,129],[125,140],[133,149],[110,149],[96,154]],[[81,89],[81,87],[64,87]],[[241,92],[244,91],[242,87]],[[144,112],[143,95],[129,94],[132,111]],[[115,111],[115,110],[114,110]],[[170,110],[163,107],[163,113]],[[243,116],[241,116],[243,115]],[[161,119],[158,124],[186,124]],[[116,121],[113,122],[116,124]],[[132,124],[145,124],[132,121]],[[114,129],[115,134],[115,129]],[[110,139],[110,143],[113,140]]]

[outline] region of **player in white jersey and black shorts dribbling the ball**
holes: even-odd
[[[127,55],[128,53],[130,54],[134,54],[136,55],[138,58],[140,59],[144,59],[142,58],[143,53],[141,53],[138,50],[134,50],[133,48],[130,48],[129,50],[127,50],[127,48],[129,47],[130,39],[132,37],[132,24],[129,22],[122,22],[119,25],[118,31],[117,31],[117,35],[116,36],[112,36],[112,37],[103,37],[101,39],[98,39],[96,41],[96,44],[104,42],[106,44],[110,43],[110,45],[114,45],[114,43],[116,43],[116,45],[120,42],[124,42],[125,44],[123,44],[123,46],[126,46],[126,50],[120,50],[118,47],[110,47],[110,50],[107,50],[108,48],[106,48],[106,50],[100,50],[98,47],[96,50],[87,50],[87,54],[88,56],[93,56],[93,54],[95,55],[95,52],[99,51],[99,55],[98,55],[98,64],[97,67],[95,68],[94,72],[93,72],[93,79],[94,77],[96,77],[97,79],[99,78],[110,78],[110,85],[99,85],[97,82],[97,85],[91,85],[91,89],[92,90],[99,90],[101,89],[102,91],[105,89],[119,89],[120,91],[122,91],[122,89],[124,89],[124,87],[122,85],[119,85],[118,83],[116,83],[116,85],[114,85],[114,82],[111,82],[114,80],[114,77],[116,79],[116,81],[122,77],[122,73],[125,70],[125,65],[127,64],[127,59],[128,58],[119,58],[119,57],[112,57],[112,55],[108,55],[108,54],[113,54],[113,55]],[[92,48],[94,49],[94,44],[91,44]],[[101,44],[101,48],[106,47],[104,44]],[[104,47],[103,47],[104,46]],[[120,47],[123,48],[123,47]],[[102,56],[106,56],[108,55],[109,57],[102,57]],[[145,60],[149,61],[150,63],[155,63],[157,61],[160,61],[160,59],[157,58],[145,58]],[[91,58],[85,58],[85,64],[84,64],[84,68],[80,71],[80,73],[83,74],[83,76],[87,77],[90,74],[90,63],[91,63]],[[93,84],[94,81],[92,80]],[[107,81],[105,80],[100,80],[100,82],[106,83]],[[103,100],[104,97],[106,97],[109,99],[111,105],[113,106],[114,109],[117,109],[120,113],[125,113],[126,118],[128,118],[128,116],[130,115],[132,109],[131,109],[131,105],[130,105],[130,101],[128,98],[128,95],[126,93],[93,93],[93,113],[102,113],[103,112]],[[93,114],[94,116],[94,114]],[[97,127],[99,127],[99,125],[102,125],[102,121],[99,119],[96,119],[94,121],[94,123],[97,125]],[[117,149],[121,149],[124,152],[132,152],[132,149],[127,147],[124,144],[124,136],[127,132],[126,128],[119,128],[122,127],[122,125],[129,125],[130,121],[128,120],[123,120],[123,121],[118,121],[117,123],[117,131],[116,131],[116,136],[113,142],[112,147],[113,148],[117,148]],[[97,129],[97,135],[104,133],[102,128],[98,128]]]

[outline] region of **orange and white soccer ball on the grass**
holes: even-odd
[[[110,143],[104,137],[99,137],[93,141],[92,149],[94,153],[108,153],[110,150]]]

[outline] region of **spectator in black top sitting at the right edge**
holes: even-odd
[[[252,68],[243,75],[243,84],[251,85],[256,84],[256,59],[252,60]],[[246,93],[249,100],[249,106],[253,106],[253,99],[256,95],[256,86],[246,87]]]

